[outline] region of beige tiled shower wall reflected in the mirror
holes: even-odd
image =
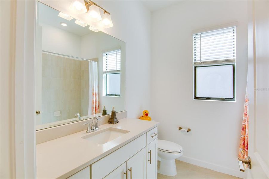
[[[88,61],[42,53],[42,124],[88,115],[88,84]]]

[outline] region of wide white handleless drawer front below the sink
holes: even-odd
[[[147,145],[147,135],[143,134],[135,140],[127,143],[111,154],[90,165],[90,178],[104,178],[110,172],[118,168],[122,163],[139,152]]]

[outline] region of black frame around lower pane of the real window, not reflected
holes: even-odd
[[[212,66],[233,66],[233,98],[209,98],[209,97],[196,97],[196,68],[198,67],[212,67]],[[200,65],[194,66],[194,100],[211,100],[211,101],[235,101],[235,63],[233,64],[216,64],[216,65]]]

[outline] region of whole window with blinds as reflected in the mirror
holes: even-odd
[[[103,76],[105,77],[105,95],[120,96],[121,50],[103,53]]]

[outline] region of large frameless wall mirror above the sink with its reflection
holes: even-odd
[[[125,42],[63,16],[38,2],[37,130],[125,110]]]

